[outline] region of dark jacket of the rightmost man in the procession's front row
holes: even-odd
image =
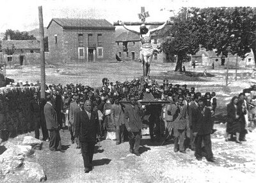
[[[200,109],[198,109],[197,120],[195,122],[195,128],[193,128],[193,132],[198,132],[199,135],[211,134],[213,127],[211,109],[209,109],[209,107],[204,107],[202,113]]]

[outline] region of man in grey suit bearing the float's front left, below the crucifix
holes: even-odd
[[[140,134],[142,129],[141,116],[143,115],[143,109],[140,102],[136,104],[136,99],[133,95],[130,96],[131,104],[125,105],[124,122],[127,131],[129,132],[129,145],[130,152],[135,155],[140,155]]]

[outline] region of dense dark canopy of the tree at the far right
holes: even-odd
[[[244,58],[252,49],[256,63],[256,8],[191,8],[189,16],[207,51]]]

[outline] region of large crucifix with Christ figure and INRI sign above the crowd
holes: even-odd
[[[149,17],[148,12],[145,12],[145,8],[141,7],[141,13],[138,14],[139,18],[141,19],[141,22],[121,22],[118,21],[117,23],[114,22],[114,26],[122,25],[125,29],[128,31],[131,31],[132,33],[135,33],[136,35],[140,35],[141,39],[141,47],[140,47],[140,60],[142,61],[142,67],[143,67],[143,76],[145,78],[148,78],[150,73],[150,63],[152,61],[152,57],[154,54],[154,48],[151,45],[151,36],[152,33],[159,31],[166,26],[166,24],[173,24],[173,22],[170,22],[167,20],[166,22],[145,22],[146,17]],[[140,25],[140,31],[135,31],[133,29],[127,28],[127,26],[133,26],[133,25]],[[148,29],[146,25],[161,25],[154,29]]]

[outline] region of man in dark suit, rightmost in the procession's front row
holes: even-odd
[[[214,163],[211,142],[213,126],[211,109],[205,107],[205,105],[206,100],[204,98],[198,99],[197,120],[192,121],[193,134],[195,136],[195,156],[198,161],[202,161],[202,141],[204,141],[206,160]]]

